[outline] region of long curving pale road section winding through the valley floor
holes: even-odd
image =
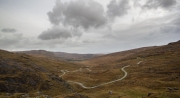
[[[117,80],[113,80],[113,81],[110,81],[110,82],[106,82],[106,83],[102,83],[102,84],[99,84],[99,85],[96,85],[96,86],[91,86],[91,87],[87,87],[87,86],[84,86],[84,84],[80,83],[80,82],[74,82],[74,81],[68,81],[68,82],[72,82],[72,83],[75,83],[75,84],[78,84],[80,85],[82,88],[85,88],[85,89],[93,89],[93,88],[96,88],[96,87],[99,87],[99,86],[103,86],[103,85],[107,85],[107,84],[111,84],[111,83],[114,83],[114,82],[118,82],[118,81],[121,81],[123,80],[124,78],[126,78],[127,76],[127,72],[124,70],[124,68],[126,67],[129,67],[130,65],[127,65],[127,66],[124,66],[123,68],[121,68],[121,70],[124,72],[124,76],[120,79],[117,79]]]

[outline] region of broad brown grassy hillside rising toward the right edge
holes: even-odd
[[[76,90],[92,98],[180,97],[180,41],[145,50],[140,48],[108,54],[81,64],[88,65],[91,71],[73,76],[69,74],[64,78],[87,87],[120,79],[125,74],[120,69],[129,65],[125,68],[127,77],[122,81],[89,90],[79,89],[79,84],[76,85]],[[75,78],[77,76],[78,79]]]

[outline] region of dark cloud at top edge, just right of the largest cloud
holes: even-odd
[[[107,5],[107,16],[110,18],[120,17],[127,14],[127,10],[129,9],[129,0],[111,0]]]

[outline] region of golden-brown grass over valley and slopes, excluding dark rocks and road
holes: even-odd
[[[11,66],[16,65],[14,63],[18,63],[22,67],[33,68],[32,65],[35,64],[38,67],[47,70],[44,72],[41,71],[41,69],[33,68],[38,74],[31,73],[26,75],[28,77],[40,75],[42,79],[41,83],[34,91],[29,89],[32,96],[37,96],[36,92],[42,88],[46,88],[46,85],[51,85],[48,86],[50,89],[44,89],[41,92],[59,98],[67,95],[73,96],[74,92],[91,98],[179,98],[180,90],[168,89],[180,89],[179,43],[180,42],[145,50],[140,49],[122,53],[113,53],[92,60],[83,61],[80,65],[78,65],[77,62],[76,64],[73,64],[46,57],[33,57],[6,52],[0,54],[0,60],[9,60],[10,62],[7,62],[7,64]],[[139,61],[143,62],[137,65],[137,62]],[[70,83],[70,87],[74,90],[74,92],[71,92],[67,87],[63,86],[63,83],[66,83],[66,81],[59,84],[59,82],[51,80],[50,78],[50,75],[61,75],[62,72],[60,70],[77,70],[83,67],[81,64],[90,66],[92,71],[90,72],[83,69],[82,72],[67,73],[63,76],[63,79],[66,81],[71,80],[81,82],[85,86],[94,86],[121,78],[124,75],[121,68],[126,65],[131,66],[125,68],[128,72],[128,76],[122,81],[88,90],[83,89],[77,84]],[[3,78],[16,78],[22,74],[20,71],[17,73],[18,74],[14,75],[0,75],[0,83],[5,83],[5,81],[2,80]],[[112,91],[113,93],[109,94],[109,91]],[[149,93],[153,94],[148,96]],[[3,94],[0,96],[3,96]]]

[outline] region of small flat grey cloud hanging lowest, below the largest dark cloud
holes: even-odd
[[[81,36],[81,32],[76,29],[65,29],[61,27],[52,27],[44,32],[42,32],[38,38],[41,40],[51,40],[51,39],[67,39],[71,37]]]

